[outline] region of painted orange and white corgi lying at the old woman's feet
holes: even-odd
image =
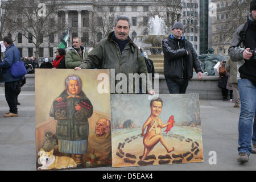
[[[53,149],[49,152],[40,149],[38,152],[40,156],[38,158],[38,164],[43,166],[38,167],[38,169],[64,169],[64,168],[76,168],[77,164],[75,160],[69,158],[68,156],[54,156]]]

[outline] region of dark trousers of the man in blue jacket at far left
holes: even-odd
[[[17,98],[18,98],[19,81],[5,82],[5,98],[10,107],[10,112],[17,114]]]

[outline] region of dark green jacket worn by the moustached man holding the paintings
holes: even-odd
[[[102,39],[79,67],[82,69],[115,69],[115,76],[118,73],[124,73],[127,76],[127,81],[129,80],[129,73],[138,73],[139,75],[145,73],[147,76],[147,66],[139,48],[129,38],[129,43],[126,44],[121,53],[118,44],[112,38],[112,34],[114,32],[111,32],[108,38]],[[117,84],[117,82],[115,83]]]

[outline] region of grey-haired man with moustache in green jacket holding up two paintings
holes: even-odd
[[[147,76],[147,66],[139,48],[129,38],[130,19],[118,15],[114,20],[114,32],[89,53],[84,63],[75,69],[114,69],[115,76],[123,73],[129,80],[129,73]],[[115,82],[117,84],[117,82]],[[151,82],[148,83],[151,86]],[[127,90],[129,86],[127,86]],[[133,89],[134,90],[134,89]],[[154,94],[154,90],[148,93]]]

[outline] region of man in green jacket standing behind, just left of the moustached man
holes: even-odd
[[[69,49],[67,56],[65,57],[65,65],[67,68],[73,69],[79,67],[79,65],[85,60],[86,50],[82,47],[82,41],[80,38],[73,38],[73,46]]]

